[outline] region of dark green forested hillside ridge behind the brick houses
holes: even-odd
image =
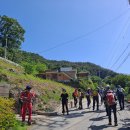
[[[10,58],[9,58],[10,59]],[[112,70],[102,68],[96,64],[90,62],[69,62],[69,61],[56,61],[56,60],[48,60],[44,57],[30,52],[19,51],[15,58],[10,59],[16,63],[21,64],[22,62],[28,62],[31,64],[42,63],[47,66],[48,69],[59,69],[60,67],[73,67],[80,71],[89,71],[92,76],[99,76],[104,79],[107,76],[114,77],[117,75],[116,72]]]

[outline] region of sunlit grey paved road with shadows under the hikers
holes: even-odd
[[[130,130],[130,111],[127,108],[119,111],[118,107],[117,116],[118,126],[114,126],[114,121],[109,126],[104,105],[99,111],[71,108],[69,115],[35,118],[36,124],[31,130]]]

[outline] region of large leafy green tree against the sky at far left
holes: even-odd
[[[0,46],[7,49],[20,49],[25,30],[16,19],[0,16]]]

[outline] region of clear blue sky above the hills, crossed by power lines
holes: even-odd
[[[130,74],[128,0],[1,0],[25,29],[22,50]]]

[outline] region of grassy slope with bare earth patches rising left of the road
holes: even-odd
[[[10,69],[12,69],[10,71]],[[16,88],[25,88],[26,85],[31,85],[33,90],[38,95],[38,108],[53,110],[54,104],[59,102],[61,88],[65,88],[72,95],[73,88],[50,80],[42,80],[32,75],[24,74],[24,69],[21,66],[16,66],[12,63],[0,59],[0,79],[1,82],[6,82],[11,85],[16,85]]]

